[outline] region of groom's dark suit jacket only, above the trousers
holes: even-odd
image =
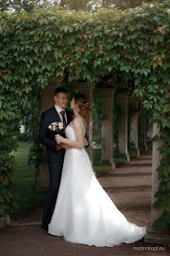
[[[65,109],[67,116],[67,125],[74,119],[74,113]],[[60,162],[60,158],[64,158],[65,149],[56,150],[56,140],[54,131],[48,129],[48,126],[54,121],[61,121],[55,107],[51,107],[42,112],[39,125],[39,142],[46,146],[47,162]]]

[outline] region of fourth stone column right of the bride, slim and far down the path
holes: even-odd
[[[142,144],[145,148],[145,151],[148,151],[147,146],[147,130],[146,130],[146,110],[142,107],[141,113],[139,115],[139,137],[142,139]]]

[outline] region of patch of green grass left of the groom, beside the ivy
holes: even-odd
[[[27,164],[27,154],[29,151],[29,144],[25,142],[19,143],[20,148],[17,152],[12,154],[16,157],[17,170],[13,178],[14,185],[20,196],[19,208],[16,208],[11,217],[16,217],[19,213],[25,213],[27,210],[37,208],[42,205],[44,199],[44,192],[33,190],[35,170],[29,168]],[[38,177],[38,185],[41,184],[40,177]]]

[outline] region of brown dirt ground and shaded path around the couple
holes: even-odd
[[[150,226],[151,154],[98,178],[129,222]],[[41,224],[42,208],[20,215],[0,230],[0,256],[128,256],[170,255],[168,245],[146,245],[143,240],[112,248],[78,245],[48,235]]]

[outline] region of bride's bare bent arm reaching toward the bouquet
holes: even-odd
[[[73,128],[74,128],[74,133],[76,135],[76,140],[65,139],[60,135],[56,135],[56,141],[67,144],[74,149],[83,149],[84,148],[83,129],[80,122],[76,119],[73,121]]]

